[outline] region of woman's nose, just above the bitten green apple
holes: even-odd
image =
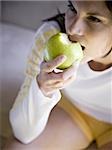
[[[74,20],[72,23],[68,24],[68,34],[83,36],[85,34],[85,23],[81,19]]]

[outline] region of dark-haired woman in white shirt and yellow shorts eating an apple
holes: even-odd
[[[60,27],[51,21],[38,30],[25,81],[10,111],[20,141],[12,140],[11,150],[79,150],[93,141],[101,149],[112,148],[112,2],[69,1],[68,7],[66,33],[81,44],[84,58],[78,66],[55,73],[66,57],[44,62],[43,51]]]

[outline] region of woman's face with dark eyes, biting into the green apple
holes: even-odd
[[[83,46],[83,63],[101,60],[112,47],[112,15],[103,1],[71,1],[65,15],[71,41]]]

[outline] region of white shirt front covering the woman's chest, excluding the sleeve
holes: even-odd
[[[111,71],[109,68],[98,72],[88,64],[80,65],[76,80],[63,93],[83,112],[112,123]]]

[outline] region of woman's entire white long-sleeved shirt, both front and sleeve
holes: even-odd
[[[29,143],[40,135],[52,108],[61,99],[59,90],[52,98],[45,97],[36,82],[46,41],[59,31],[58,24],[53,21],[44,23],[37,31],[28,57],[25,81],[10,110],[14,135],[23,143]],[[111,69],[95,72],[87,64],[81,65],[76,81],[62,92],[79,109],[99,120],[112,122]]]

